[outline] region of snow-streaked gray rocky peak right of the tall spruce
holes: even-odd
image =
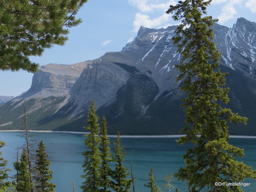
[[[233,28],[215,25],[214,29],[221,64],[255,78],[256,23],[239,18]]]

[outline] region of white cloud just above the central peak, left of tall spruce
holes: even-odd
[[[148,15],[144,15],[141,13],[136,13],[135,20],[134,20],[134,29],[132,32],[138,32],[140,29],[140,26],[148,27],[148,28],[159,28],[163,27],[163,23],[169,21],[169,17],[171,15],[167,15],[164,13],[160,17],[150,19]]]

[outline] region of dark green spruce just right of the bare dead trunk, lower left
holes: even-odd
[[[52,180],[52,171],[50,162],[47,160],[47,153],[43,141],[38,144],[35,161],[35,189],[39,192],[54,192],[55,184],[50,183]]]

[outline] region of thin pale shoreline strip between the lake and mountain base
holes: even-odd
[[[24,130],[0,130],[0,132],[24,132]],[[67,133],[67,134],[88,134],[89,132],[79,132],[79,131],[37,131],[29,130],[29,132],[38,133]],[[183,137],[185,135],[121,135],[122,138],[177,138]],[[108,137],[116,137],[116,135],[108,135]],[[249,135],[230,135],[230,138],[247,138],[256,139],[256,136]]]

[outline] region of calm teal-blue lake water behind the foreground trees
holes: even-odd
[[[54,172],[52,182],[57,185],[56,192],[71,192],[72,181],[76,184],[76,191],[81,192],[79,188],[82,182],[80,175],[83,173],[81,164],[84,159],[81,153],[86,150],[83,145],[83,135],[38,132],[30,134],[38,142],[44,140],[51,169]],[[0,132],[0,140],[6,143],[1,151],[3,157],[9,161],[8,167],[13,169],[12,163],[16,156],[15,148],[21,146],[24,140],[20,137],[20,132]],[[164,183],[163,177],[169,172],[175,173],[180,166],[183,166],[182,155],[189,145],[180,147],[175,140],[177,138],[122,138],[122,145],[126,146],[127,151],[124,162],[126,167],[130,167],[130,154],[131,150],[133,151],[132,160],[137,192],[148,191],[148,188],[143,185],[147,183],[150,167],[154,168],[156,183],[161,186]],[[111,138],[112,141],[113,138]],[[246,155],[242,161],[256,169],[256,139],[231,138],[230,143],[244,148]],[[255,192],[256,181],[247,180],[247,182],[250,182],[250,186],[244,187],[244,191]],[[180,189],[180,192],[186,191],[184,189],[186,186],[181,182],[175,181],[173,184]]]

